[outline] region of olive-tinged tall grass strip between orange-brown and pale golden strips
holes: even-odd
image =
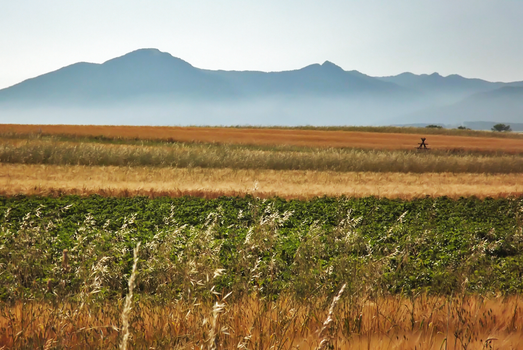
[[[215,144],[133,146],[54,140],[3,140],[0,162],[49,165],[317,170],[338,172],[523,172],[523,157],[461,151],[379,151],[339,148],[264,150]]]

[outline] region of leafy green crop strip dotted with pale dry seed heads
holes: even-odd
[[[0,197],[0,298],[522,292],[522,204]]]

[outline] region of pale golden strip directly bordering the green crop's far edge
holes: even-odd
[[[5,195],[97,193],[213,198],[253,194],[283,198],[345,195],[410,199],[424,196],[506,197],[521,192],[521,174],[0,165],[0,193]]]

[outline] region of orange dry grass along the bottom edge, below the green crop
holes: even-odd
[[[329,316],[324,298],[305,302],[255,297],[223,304],[216,320],[219,349],[315,349]],[[346,297],[333,308],[326,348],[335,349],[523,349],[520,296]],[[20,302],[1,306],[0,348],[116,348],[120,303],[79,308]],[[211,333],[211,303],[137,303],[134,348],[202,349]]]

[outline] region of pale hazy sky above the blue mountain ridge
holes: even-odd
[[[332,61],[523,80],[523,0],[0,0],[0,88],[158,48],[199,68]]]

